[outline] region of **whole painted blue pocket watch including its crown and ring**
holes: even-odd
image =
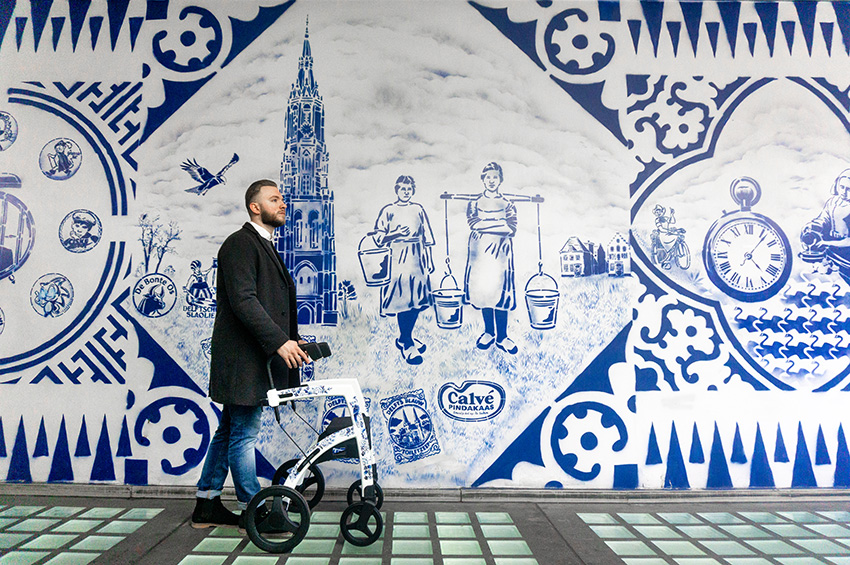
[[[705,236],[702,260],[708,278],[736,300],[767,300],[788,282],[791,245],[776,222],[751,210],[761,198],[755,180],[735,179],[729,192],[741,209],[724,212]]]

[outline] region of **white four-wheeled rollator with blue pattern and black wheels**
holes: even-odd
[[[327,352],[324,355],[315,353],[314,356],[313,351],[307,350],[314,359],[330,355],[327,346],[321,345]],[[272,381],[271,369],[269,380]],[[316,444],[301,459],[292,459],[281,465],[272,479],[272,486],[260,490],[248,503],[245,528],[254,545],[264,551],[286,553],[301,543],[310,528],[310,510],[325,492],[325,478],[318,464],[333,459],[360,460],[361,478],[348,489],[348,507],[339,521],[342,536],[357,546],[370,545],[381,537],[384,521],[379,509],[384,496],[377,483],[369,415],[357,379],[329,379],[280,390],[274,388],[272,381],[266,400],[275,409],[280,423],[279,407],[282,404],[323,396],[343,397],[350,416],[331,420],[327,429],[319,434]],[[356,502],[355,493],[359,498]],[[266,516],[257,523],[257,509],[263,505],[266,512],[260,516]]]

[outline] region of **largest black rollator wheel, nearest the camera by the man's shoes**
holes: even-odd
[[[280,485],[266,487],[248,503],[245,529],[254,545],[263,551],[287,553],[307,535],[310,508],[294,489]]]

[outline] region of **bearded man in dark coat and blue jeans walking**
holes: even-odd
[[[245,507],[260,490],[254,447],[270,386],[266,363],[272,358],[286,364],[275,387],[287,388],[298,385],[301,365],[310,362],[299,347],[295,283],[272,244],[275,228],[284,224],[286,204],[274,182],[258,180],[248,187],[245,206],[251,221],[218,252],[210,398],[224,409],[198,481],[195,528],[244,528]],[[228,469],[241,518],[221,503]],[[263,511],[261,506],[258,524]]]

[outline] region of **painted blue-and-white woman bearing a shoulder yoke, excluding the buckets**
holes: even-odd
[[[506,353],[517,346],[508,337],[508,311],[516,308],[514,247],[516,206],[499,192],[504,179],[498,163],[488,163],[481,171],[484,192],[466,207],[469,223],[469,255],[466,262],[465,299],[481,310],[484,333],[476,346],[487,349],[493,343]]]

